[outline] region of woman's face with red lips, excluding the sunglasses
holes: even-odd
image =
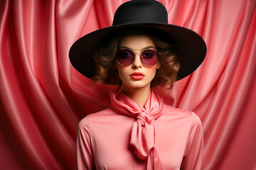
[[[122,80],[122,86],[128,88],[143,88],[149,87],[152,79],[156,74],[156,69],[161,67],[161,64],[157,62],[151,67],[142,64],[140,55],[145,49],[154,49],[154,43],[151,38],[146,35],[129,35],[124,37],[120,42],[119,50],[129,49],[134,52],[135,57],[132,64],[124,66],[116,61],[116,67],[120,79]]]

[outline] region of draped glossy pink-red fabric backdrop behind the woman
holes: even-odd
[[[116,86],[93,85],[68,51],[111,26],[123,2],[0,1],[0,169],[75,169],[78,122],[109,107]],[[256,1],[161,3],[169,23],[196,31],[208,52],[191,76],[157,91],[201,118],[204,169],[256,169]]]

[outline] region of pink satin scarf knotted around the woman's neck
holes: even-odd
[[[147,169],[163,169],[155,148],[154,130],[154,120],[165,111],[163,99],[151,92],[143,108],[121,91],[120,94],[110,93],[110,101],[113,111],[137,118],[132,125],[130,140],[130,145],[134,147],[134,154],[139,159],[148,159]]]

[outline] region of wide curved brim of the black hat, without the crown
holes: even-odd
[[[166,23],[125,23],[95,30],[78,39],[70,48],[71,64],[78,72],[90,79],[95,75],[93,55],[102,38],[121,28],[134,27],[156,28],[164,31],[174,41],[177,48],[178,61],[180,62],[177,80],[183,79],[194,72],[206,57],[206,42],[193,30]]]

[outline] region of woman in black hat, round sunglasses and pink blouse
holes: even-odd
[[[202,169],[201,120],[164,104],[153,86],[171,88],[206,55],[203,39],[169,25],[157,1],[122,4],[113,26],[80,38],[70,62],[96,83],[119,84],[111,107],[79,123],[78,169]]]

